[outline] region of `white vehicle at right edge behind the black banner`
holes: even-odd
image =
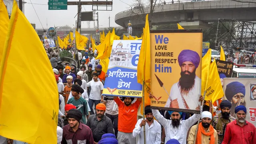
[[[256,78],[256,65],[236,64],[233,66],[232,78]]]

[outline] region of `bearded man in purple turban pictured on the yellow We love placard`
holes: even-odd
[[[180,79],[172,85],[170,98],[165,107],[195,110],[200,97],[201,79],[196,76],[196,68],[200,64],[200,56],[193,50],[182,50],[178,56],[181,68]]]

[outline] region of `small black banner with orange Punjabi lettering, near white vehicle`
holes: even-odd
[[[232,72],[233,72],[233,62],[226,62],[223,60],[216,60],[216,65],[218,69],[219,74],[225,74],[227,78],[232,77]]]

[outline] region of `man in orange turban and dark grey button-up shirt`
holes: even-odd
[[[106,106],[99,103],[96,105],[96,114],[91,115],[86,123],[92,130],[94,143],[97,143],[103,134],[114,134],[113,124],[110,118],[105,116]]]

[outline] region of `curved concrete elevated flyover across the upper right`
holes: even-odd
[[[246,0],[244,0],[246,1]],[[218,19],[255,21],[256,0],[235,2],[232,0],[180,1],[157,4],[150,17],[152,25],[179,23],[184,28],[204,28],[207,22],[218,22]],[[254,3],[249,3],[254,2]],[[127,28],[129,20],[133,28],[144,27],[144,16],[150,13],[150,6],[135,7],[115,16],[116,24]]]

